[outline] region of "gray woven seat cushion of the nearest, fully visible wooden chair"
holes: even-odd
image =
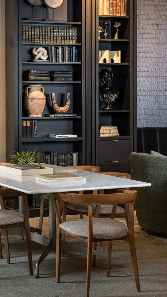
[[[77,236],[88,237],[88,219],[78,219],[60,224],[60,228]],[[93,238],[114,239],[127,235],[127,226],[116,219],[94,219]]]

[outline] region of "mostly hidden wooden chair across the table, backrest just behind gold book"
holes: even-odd
[[[93,165],[66,166],[65,168],[81,169],[81,170],[91,171],[91,172],[95,172],[95,173],[100,172],[100,167],[99,166],[93,166]],[[82,194],[82,191],[79,191],[79,193]],[[44,213],[45,201],[47,201],[47,202],[49,201],[49,194],[41,194],[39,234],[42,233],[43,213]],[[60,206],[60,208],[62,210],[62,205]]]

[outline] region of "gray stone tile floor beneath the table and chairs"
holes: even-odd
[[[31,226],[38,226],[38,218]],[[44,218],[43,234],[48,234],[48,218]],[[141,292],[137,292],[127,242],[113,243],[110,277],[106,277],[105,258],[97,257],[92,267],[90,297],[167,297],[167,239],[135,234]],[[40,264],[40,279],[29,275],[26,241],[10,236],[11,264],[0,259],[0,297],[84,297],[86,292],[86,255],[65,252],[61,259],[60,282],[56,283],[56,252]],[[66,237],[73,243],[85,242]],[[33,269],[44,247],[32,241]],[[101,250],[101,247],[98,247]],[[107,249],[107,246],[106,246]]]

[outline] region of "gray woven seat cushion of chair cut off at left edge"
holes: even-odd
[[[24,215],[18,211],[0,209],[0,226],[24,222]]]

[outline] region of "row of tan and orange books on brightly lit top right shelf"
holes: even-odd
[[[127,15],[127,0],[99,0],[99,15]]]

